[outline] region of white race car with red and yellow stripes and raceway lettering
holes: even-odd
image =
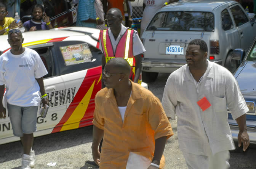
[[[44,84],[50,108],[45,119],[38,115],[34,136],[92,125],[102,71],[102,53],[92,34],[99,37],[99,30],[67,27],[23,33],[23,46],[37,51],[48,70]],[[7,35],[0,36],[2,53],[10,49],[7,39]],[[76,53],[84,58],[72,58]],[[147,88],[146,83],[142,82],[142,86]],[[8,113],[6,116],[0,119],[0,144],[19,140],[13,135]]]

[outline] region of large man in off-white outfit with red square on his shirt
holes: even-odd
[[[187,64],[168,78],[162,105],[169,119],[178,117],[178,139],[189,169],[229,168],[234,150],[227,122],[227,106],[239,127],[238,146],[250,144],[246,129],[248,111],[237,81],[226,68],[207,59],[207,44],[191,41]]]

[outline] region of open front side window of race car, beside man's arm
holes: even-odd
[[[40,58],[43,61],[43,64],[45,65],[46,70],[48,71],[48,74],[45,75],[43,78],[54,76],[55,71],[54,71],[53,57],[51,54],[51,47],[35,48],[33,50],[35,50],[39,54]]]

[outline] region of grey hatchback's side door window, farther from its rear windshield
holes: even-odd
[[[231,10],[231,13],[232,13],[232,15],[234,17],[235,24],[237,25],[237,27],[245,24],[246,22],[249,22],[248,17],[242,11],[240,6],[238,6],[238,5],[233,6],[232,8],[230,8],[230,10]]]

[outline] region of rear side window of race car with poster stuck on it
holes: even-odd
[[[81,41],[56,42],[61,75],[101,66],[102,53]]]

